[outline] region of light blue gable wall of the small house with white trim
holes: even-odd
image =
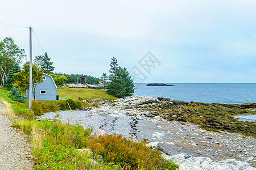
[[[56,87],[53,83],[51,76],[43,74],[46,79],[42,83],[38,84],[35,88],[36,100],[56,100]],[[40,91],[46,91],[46,94],[40,94]],[[26,91],[26,97],[28,99],[29,90]],[[34,96],[32,94],[32,99]]]

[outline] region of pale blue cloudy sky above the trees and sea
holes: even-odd
[[[135,83],[256,83],[255,0],[9,0],[0,8],[0,23],[32,27],[33,58],[47,52],[57,73],[109,75],[115,57]],[[29,60],[28,28],[0,24],[0,37]]]

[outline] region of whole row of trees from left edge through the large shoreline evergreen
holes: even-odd
[[[10,37],[6,37],[0,42],[1,86],[4,84],[10,90],[15,87],[23,91],[29,88],[29,62],[26,62],[22,69],[19,67],[24,57],[26,57],[24,49],[20,49],[14,44],[14,40]],[[110,75],[107,76],[106,73],[103,73],[101,78],[83,74],[53,73],[55,67],[52,66],[53,62],[50,60],[47,53],[35,56],[35,64],[32,65],[32,92],[34,95],[36,85],[43,81],[43,73],[51,75],[57,86],[63,86],[64,83],[77,83],[77,80],[84,84],[100,84],[102,82],[104,89],[106,87],[110,95],[125,97],[134,93],[133,79],[125,67],[118,65],[115,57],[110,63]]]

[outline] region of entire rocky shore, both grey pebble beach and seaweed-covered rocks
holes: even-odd
[[[146,140],[148,146],[162,151],[167,159],[179,164],[180,169],[256,169],[256,139],[243,135],[243,128],[238,129],[239,133],[232,133],[230,129],[222,130],[222,126],[217,125],[221,124],[219,121],[225,123],[232,120],[232,114],[255,114],[255,110],[251,109],[255,106],[253,103],[188,103],[149,96],[86,102],[96,102],[99,107],[73,111],[76,118],[70,111],[46,113],[44,117],[53,118],[58,114],[63,122],[79,122],[85,128],[92,126],[94,131],[102,129],[109,134]],[[198,116],[197,112],[201,115]],[[228,117],[224,116],[226,113]],[[193,117],[193,114],[196,116]],[[214,122],[207,121],[213,127],[204,126],[207,125],[207,116],[216,119]],[[218,116],[222,119],[218,120]],[[230,121],[228,127],[232,130],[237,125],[247,126],[246,122],[237,121]],[[250,123],[255,126],[254,122]]]

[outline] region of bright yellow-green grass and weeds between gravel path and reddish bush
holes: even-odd
[[[76,151],[86,147],[92,128],[49,120],[18,120],[13,126],[29,135],[35,169],[119,169],[118,165],[95,164],[89,155]]]

